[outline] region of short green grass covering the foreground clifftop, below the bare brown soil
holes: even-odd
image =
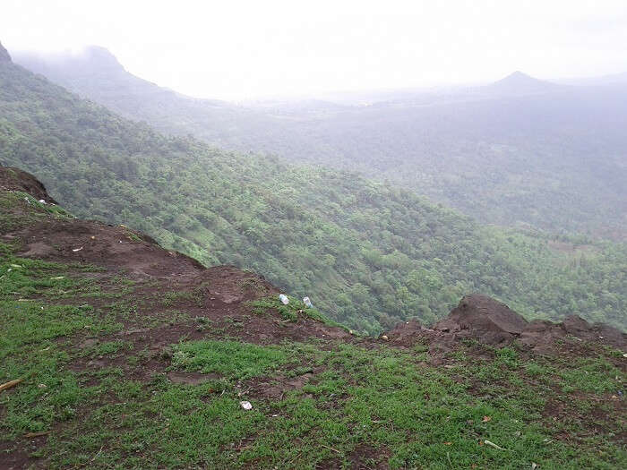
[[[31,202],[19,206],[19,226],[67,217]],[[150,279],[19,258],[16,244],[0,245],[0,383],[24,381],[0,392],[0,462],[29,455],[18,461],[50,468],[627,466],[621,352],[580,345],[551,359],[466,343],[434,365],[421,344],[399,350],[276,337],[253,345],[238,329],[225,334],[193,319],[184,302],[192,292],[147,296]],[[159,303],[178,314],[154,313]],[[256,305],[253,316],[270,314],[260,307],[273,303]],[[173,338],[156,358],[142,339],[190,321],[204,338]],[[133,328],[149,332],[116,334]],[[168,380],[168,370],[212,375],[187,385]],[[251,411],[239,406],[244,399]]]

